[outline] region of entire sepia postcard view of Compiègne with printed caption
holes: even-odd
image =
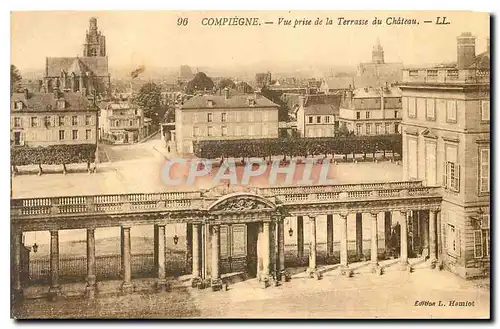
[[[489,13],[10,29],[11,318],[490,319]]]

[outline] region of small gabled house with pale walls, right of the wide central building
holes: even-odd
[[[302,137],[333,137],[339,127],[340,95],[299,96],[297,130]]]

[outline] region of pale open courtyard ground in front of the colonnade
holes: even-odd
[[[218,292],[181,287],[156,294],[52,303],[28,300],[16,314],[35,318],[488,318],[490,307],[489,291],[477,282],[425,268],[409,273],[389,267],[376,276],[361,266],[352,278],[333,268],[322,280],[300,273],[278,287],[263,289],[255,279],[229,287]],[[437,306],[440,301],[442,306]],[[451,301],[471,306],[450,306]],[[435,306],[417,306],[420,302]]]

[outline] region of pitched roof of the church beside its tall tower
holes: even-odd
[[[85,72],[92,72],[96,76],[107,76],[107,57],[47,57],[45,65],[45,76],[58,77],[61,71],[68,74],[75,73],[81,75]]]

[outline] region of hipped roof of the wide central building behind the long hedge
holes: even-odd
[[[249,99],[255,100],[255,105],[250,106]],[[213,102],[209,106],[209,100]],[[197,108],[254,108],[254,107],[278,107],[266,97],[259,95],[235,95],[225,98],[221,95],[197,95],[184,102],[182,109],[197,109]]]

